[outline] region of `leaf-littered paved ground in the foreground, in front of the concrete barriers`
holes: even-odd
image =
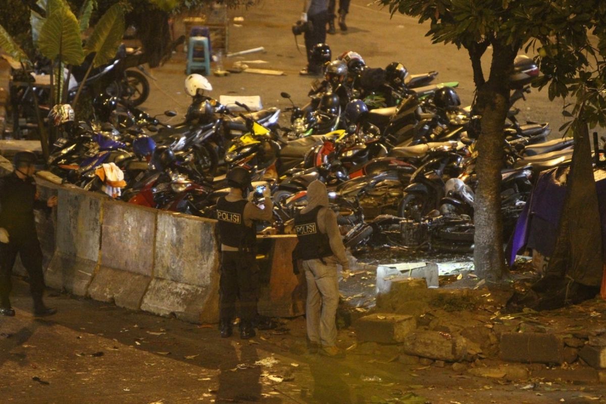
[[[64,294],[47,301],[59,313],[33,319],[27,285],[16,282],[17,316],[0,319],[2,404],[606,402],[606,387],[581,372],[539,365],[540,377],[513,383],[404,365],[397,346],[356,345],[348,330],[338,341],[351,347],[346,359],[312,356],[301,318],[284,320],[284,334],[262,331],[249,342]],[[559,380],[571,375],[573,383]]]

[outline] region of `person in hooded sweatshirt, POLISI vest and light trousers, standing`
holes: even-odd
[[[328,207],[326,185],[316,180],[307,188],[308,204],[295,216],[298,243],[293,256],[301,262],[307,280],[306,322],[310,351],[342,356],[336,346],[339,304],[337,264],[344,276],[349,262],[334,211]]]

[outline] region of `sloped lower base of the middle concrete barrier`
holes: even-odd
[[[139,310],[151,278],[127,271],[100,267],[88,288],[88,295],[101,302]]]

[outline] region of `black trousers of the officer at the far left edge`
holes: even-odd
[[[0,306],[10,307],[8,295],[12,290],[11,275],[17,254],[30,277],[30,291],[34,302],[42,300],[44,292],[44,274],[42,274],[42,250],[36,233],[21,240],[10,240],[10,243],[0,243]]]

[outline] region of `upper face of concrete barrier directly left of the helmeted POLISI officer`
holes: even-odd
[[[159,211],[154,276],[209,289],[218,285],[215,226],[216,220]]]

